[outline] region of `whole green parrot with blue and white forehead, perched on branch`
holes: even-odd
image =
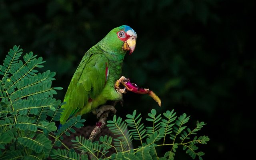
[[[85,53],[64,97],[60,124],[72,116],[91,112],[108,100],[122,100],[122,93],[114,85],[121,76],[124,56],[127,51],[132,54],[136,39],[136,32],[123,25],[111,30]]]

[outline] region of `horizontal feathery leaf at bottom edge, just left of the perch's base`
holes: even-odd
[[[77,154],[67,150],[52,150],[51,158],[53,160],[88,160],[87,154]]]

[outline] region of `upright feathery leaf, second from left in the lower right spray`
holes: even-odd
[[[127,122],[127,125],[129,127],[132,127],[132,128],[135,128],[135,129],[132,129],[130,130],[131,132],[131,135],[132,137],[135,139],[135,140],[140,140],[140,143],[142,145],[142,139],[146,137],[146,129],[145,129],[145,126],[144,124],[140,124],[140,121],[141,121],[141,117],[140,117],[141,114],[138,114],[136,116],[136,110],[134,110],[134,112],[132,113],[132,115],[128,114],[126,115],[126,117],[128,119],[125,120],[125,122]]]

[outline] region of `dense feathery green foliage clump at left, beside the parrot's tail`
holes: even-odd
[[[55,121],[60,120],[62,104],[53,95],[62,88],[52,87],[56,73],[39,73],[37,68],[45,62],[42,57],[29,52],[22,61],[22,51],[14,46],[0,66],[0,157],[47,159],[58,152],[52,147],[62,144],[62,134],[74,133],[71,127],[80,128],[85,120],[81,116],[71,118],[57,130]],[[76,154],[69,152],[67,156],[75,158]]]

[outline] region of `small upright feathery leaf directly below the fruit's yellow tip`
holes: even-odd
[[[150,118],[146,118],[146,120],[153,122],[153,127],[146,127],[147,129],[147,135],[150,137],[152,134],[157,132],[160,129],[160,120],[162,119],[161,114],[156,116],[156,110],[152,109],[151,113],[148,114]]]

